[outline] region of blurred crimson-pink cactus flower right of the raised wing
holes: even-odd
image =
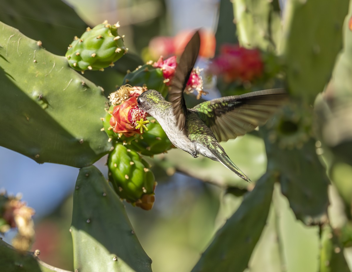
[[[208,71],[223,76],[226,82],[251,81],[263,74],[264,64],[260,51],[239,45],[225,44],[220,55],[214,58]]]

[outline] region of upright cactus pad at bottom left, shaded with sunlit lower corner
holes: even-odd
[[[78,174],[70,231],[74,271],[151,272],[124,205],[95,166]]]

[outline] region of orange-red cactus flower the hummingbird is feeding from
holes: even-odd
[[[114,107],[110,125],[115,133],[122,133],[126,137],[142,134],[142,129],[139,129],[139,127],[147,122],[146,115],[145,111],[138,108],[137,98],[131,97]],[[139,125],[141,122],[143,124]],[[136,126],[138,126],[138,129],[136,129]]]

